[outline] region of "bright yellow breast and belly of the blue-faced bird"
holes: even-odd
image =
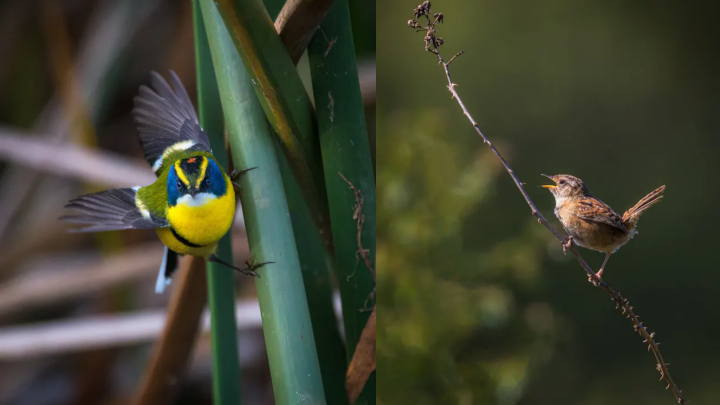
[[[235,191],[225,179],[227,192],[217,197],[199,194],[195,198],[184,196],[176,205],[168,207],[170,228],[159,228],[160,240],[171,250],[193,256],[207,256],[232,225],[235,216]],[[177,238],[177,233],[182,239]],[[192,245],[188,245],[189,242]]]

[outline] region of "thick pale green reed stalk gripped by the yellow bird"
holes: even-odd
[[[275,403],[324,404],[315,338],[273,133],[253,83],[212,0],[200,0],[233,162],[257,167],[239,191],[258,270],[258,299]]]

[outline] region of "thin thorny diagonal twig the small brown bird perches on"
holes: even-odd
[[[457,86],[456,83],[452,81],[450,78],[450,62],[455,60],[458,56],[460,56],[464,51],[461,51],[457,53],[455,56],[450,59],[450,61],[445,62],[440,55],[439,47],[444,44],[444,40],[440,37],[437,37],[437,32],[435,31],[435,26],[438,23],[443,22],[443,14],[442,13],[435,13],[432,15],[432,20],[430,17],[430,2],[426,1],[422,4],[420,4],[415,9],[415,20],[408,21],[408,25],[411,28],[418,29],[418,31],[424,31],[425,32],[425,49],[428,52],[434,53],[435,56],[437,56],[439,64],[442,65],[444,71],[445,71],[445,77],[447,78],[448,82],[448,90],[452,94],[452,99],[455,99],[458,104],[460,105],[460,108],[463,111],[463,114],[468,118],[470,123],[475,128],[475,131],[480,135],[483,142],[487,144],[490,149],[492,150],[493,154],[497,156],[498,159],[502,162],[503,166],[505,167],[505,170],[507,170],[508,174],[510,174],[510,177],[512,177],[513,182],[515,182],[515,185],[517,186],[518,190],[520,190],[520,193],[522,194],[523,198],[525,198],[525,202],[530,206],[530,211],[532,212],[532,215],[534,215],[538,222],[543,224],[550,232],[552,232],[553,235],[555,235],[555,238],[560,241],[560,243],[565,242],[565,237],[562,236],[550,223],[543,217],[543,215],[540,213],[540,211],[535,206],[535,203],[530,199],[530,196],[525,191],[525,188],[523,187],[523,183],[518,179],[517,175],[515,175],[515,172],[510,167],[510,165],[505,161],[505,159],[502,157],[500,152],[495,148],[495,146],[490,142],[490,140],[483,134],[483,132],[480,130],[480,127],[478,126],[475,119],[470,115],[470,112],[468,112],[467,108],[465,107],[465,104],[462,102],[462,99],[460,99],[460,96],[458,95],[457,91],[455,90],[455,87]],[[418,18],[425,17],[428,25],[426,27],[423,27],[420,25],[417,21]],[[613,290],[609,285],[607,285],[602,279],[595,276],[595,272],[592,270],[592,268],[583,260],[583,258],[580,256],[580,253],[578,253],[577,249],[570,245],[569,249],[570,252],[572,252],[573,256],[577,259],[578,263],[580,263],[580,266],[582,266],[583,269],[585,269],[585,272],[588,275],[588,279],[592,282],[593,285],[602,288],[609,296],[610,299],[616,304],[616,308],[622,308],[622,313],[627,315],[627,318],[629,318],[633,323],[633,329],[638,332],[645,340],[643,343],[648,344],[648,350],[652,350],[653,354],[655,355],[655,360],[657,361],[657,370],[660,372],[660,379],[665,379],[668,386],[666,388],[672,388],[673,395],[675,395],[675,399],[677,399],[679,404],[685,404],[686,399],[682,396],[682,390],[680,390],[673,381],[672,376],[670,375],[670,370],[668,369],[668,363],[665,363],[665,360],[663,360],[662,354],[660,354],[660,349],[658,347],[657,341],[655,340],[655,333],[648,333],[647,327],[643,325],[642,322],[638,319],[638,316],[635,315],[635,312],[633,312],[633,307],[630,306],[630,302],[622,296],[619,292]]]

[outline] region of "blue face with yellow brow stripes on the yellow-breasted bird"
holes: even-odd
[[[167,179],[168,205],[173,207],[185,195],[211,194],[221,197],[227,192],[222,171],[213,159],[196,156],[176,162]]]

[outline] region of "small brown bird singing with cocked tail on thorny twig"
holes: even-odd
[[[543,176],[555,182],[554,185],[542,187],[549,189],[555,197],[555,215],[570,235],[565,241],[565,248],[569,248],[574,241],[584,248],[605,253],[605,261],[595,274],[598,278],[602,278],[610,255],[635,236],[640,215],[662,200],[665,191],[665,186],[660,186],[621,217],[607,204],[593,197],[585,183],[577,177],[569,174]]]

